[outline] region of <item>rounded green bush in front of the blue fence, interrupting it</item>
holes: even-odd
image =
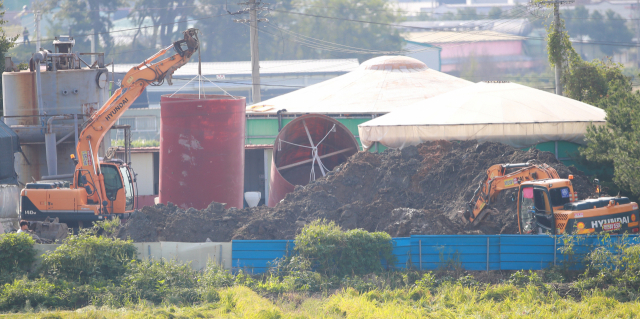
[[[391,236],[362,229],[342,231],[334,222],[315,221],[296,236],[295,250],[328,276],[362,275],[381,271],[381,260],[395,263]]]

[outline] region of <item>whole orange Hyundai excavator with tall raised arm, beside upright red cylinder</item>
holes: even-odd
[[[27,183],[21,192],[20,217],[41,221],[59,218],[64,223],[82,223],[114,216],[127,217],[134,210],[136,196],[134,174],[121,160],[98,159],[98,146],[112,125],[131,106],[144,89],[165,79],[171,85],[175,70],[185,65],[198,50],[197,30],[183,32],[184,39],[157,52],[133,67],[122,80],[121,87],[84,123],[76,146],[77,158],[73,183],[42,181]],[[186,48],[185,48],[186,46]],[[171,48],[177,52],[160,62],[150,64]]]

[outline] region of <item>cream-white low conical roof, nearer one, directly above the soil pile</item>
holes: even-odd
[[[605,111],[515,83],[480,82],[358,125],[363,146],[402,148],[434,140],[501,142],[526,148],[551,141],[584,144]],[[558,156],[558,154],[556,154]]]

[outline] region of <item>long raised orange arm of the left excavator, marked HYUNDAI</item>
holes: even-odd
[[[172,84],[173,72],[185,65],[198,49],[199,41],[196,32],[195,29],[183,32],[183,40],[174,42],[171,46],[129,70],[123,78],[121,87],[85,123],[78,138],[76,171],[82,171],[83,178],[92,181],[91,184],[95,187],[95,191],[92,192],[90,198],[95,202],[104,205],[107,198],[104,176],[101,173],[100,163],[98,163],[98,147],[104,136],[147,86],[161,83],[165,78],[169,84]],[[183,45],[186,45],[186,48]],[[150,64],[171,48],[175,49],[177,53],[160,62]],[[73,185],[77,187],[79,174],[74,175]]]

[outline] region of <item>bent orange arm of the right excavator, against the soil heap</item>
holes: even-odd
[[[507,173],[509,169],[519,168],[517,171]],[[477,225],[486,214],[485,207],[496,200],[498,194],[510,188],[517,188],[520,183],[547,178],[560,178],[558,172],[547,164],[533,165],[529,163],[496,164],[487,170],[487,176],[483,180],[473,197],[467,204],[464,217],[472,225]]]

